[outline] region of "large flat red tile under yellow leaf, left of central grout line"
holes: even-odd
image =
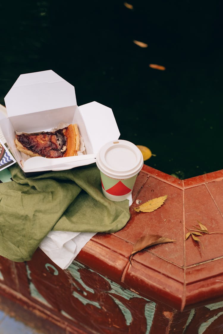
[[[183,225],[183,192],[173,185],[149,176],[144,183],[137,198],[142,203],[163,195],[168,195],[164,204],[153,212],[136,212],[133,208],[138,206],[133,202],[130,213],[131,220],[114,235],[134,244],[142,235],[158,234],[178,242],[165,243],[152,247],[151,252],[161,256],[177,265],[184,264],[184,234]],[[170,210],[171,208],[171,210]]]

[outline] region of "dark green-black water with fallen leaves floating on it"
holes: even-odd
[[[78,105],[112,108],[120,138],[156,154],[146,164],[180,178],[222,169],[222,2],[127,2],[1,2],[0,103],[19,74],[52,69]]]

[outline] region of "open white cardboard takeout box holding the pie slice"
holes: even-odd
[[[52,70],[21,74],[5,97],[8,117],[0,126],[9,149],[25,173],[66,170],[95,162],[100,147],[120,132],[112,109],[91,102],[77,106],[75,88]],[[63,122],[77,123],[86,154],[63,158],[29,157],[15,146],[15,134],[50,131]]]

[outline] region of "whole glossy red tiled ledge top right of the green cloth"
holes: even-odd
[[[223,300],[223,234],[190,237],[187,228],[200,220],[210,232],[223,231],[223,170],[187,180],[143,166],[134,189],[131,218],[112,234],[98,233],[79,253],[83,264],[142,296],[178,310]],[[149,213],[136,212],[143,202],[168,195]],[[129,256],[136,240],[158,234],[176,242],[153,245]],[[216,260],[215,260],[216,259]],[[215,261],[214,261],[215,260]],[[206,304],[205,304],[206,303]]]

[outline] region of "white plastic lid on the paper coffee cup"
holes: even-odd
[[[127,140],[114,140],[101,147],[96,164],[100,171],[112,178],[127,179],[143,166],[141,151]]]

